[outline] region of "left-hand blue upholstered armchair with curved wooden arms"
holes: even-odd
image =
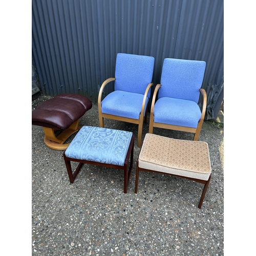
[[[154,61],[151,56],[118,53],[115,78],[102,83],[98,96],[99,126],[104,127],[104,118],[138,124],[139,147],[153,86]],[[115,90],[101,101],[104,87],[111,81],[115,81]]]

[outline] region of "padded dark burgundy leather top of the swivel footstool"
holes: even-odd
[[[32,124],[66,130],[92,108],[87,97],[75,93],[57,95],[32,111]]]

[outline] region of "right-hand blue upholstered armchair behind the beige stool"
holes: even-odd
[[[152,99],[149,133],[160,127],[195,133],[193,140],[199,139],[207,100],[201,88],[205,66],[205,61],[164,59],[161,84],[157,84]],[[200,92],[202,110],[198,105]]]

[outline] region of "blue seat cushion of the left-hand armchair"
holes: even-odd
[[[102,113],[139,119],[144,95],[125,91],[114,91],[101,102]],[[146,98],[145,106],[149,99]],[[143,115],[145,115],[146,108]]]

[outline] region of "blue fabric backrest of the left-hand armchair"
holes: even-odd
[[[155,58],[151,56],[118,53],[116,57],[115,91],[145,93],[152,82]],[[151,90],[147,97],[150,98]]]

